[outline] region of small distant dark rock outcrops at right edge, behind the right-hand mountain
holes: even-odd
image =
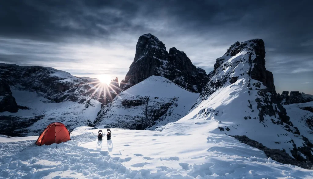
[[[283,91],[281,95],[278,93],[278,100],[282,105],[306,103],[313,101],[313,95],[307,95],[305,93],[300,93],[299,91]]]

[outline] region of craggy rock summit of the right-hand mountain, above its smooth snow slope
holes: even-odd
[[[210,80],[203,92],[203,100],[225,86],[244,80],[249,90],[258,90],[255,101],[258,103],[260,121],[264,120],[264,115],[278,114],[283,122],[292,125],[285,108],[278,102],[273,73],[266,70],[264,57],[262,39],[234,43],[224,56],[216,60],[213,71],[209,73]],[[262,85],[265,87],[262,88]],[[265,104],[275,104],[276,108]]]

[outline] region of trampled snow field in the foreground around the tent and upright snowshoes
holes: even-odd
[[[38,136],[1,137],[0,178],[313,178],[225,134],[111,131],[97,141],[98,129],[79,127],[49,146],[33,145]]]

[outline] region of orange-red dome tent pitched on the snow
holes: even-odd
[[[54,143],[60,144],[61,142],[66,142],[71,140],[69,130],[61,122],[53,122],[47,126],[43,133],[38,137],[36,144],[41,145],[51,145]]]

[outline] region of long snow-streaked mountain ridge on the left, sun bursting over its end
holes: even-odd
[[[93,125],[101,104],[115,97],[116,80],[108,87],[54,68],[1,63],[1,133],[37,135],[54,121],[64,122],[69,130]]]

